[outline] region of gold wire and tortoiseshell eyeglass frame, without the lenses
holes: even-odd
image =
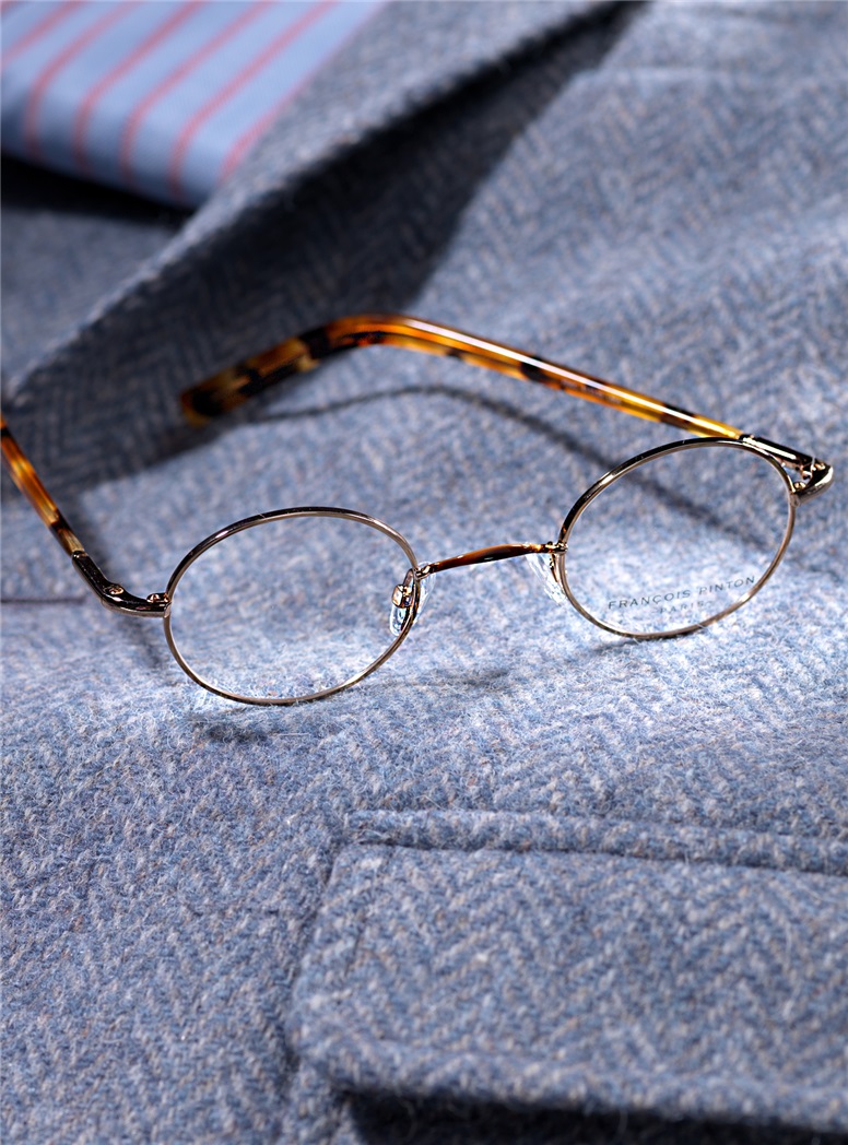
[[[417,350],[425,354],[435,354],[445,357],[460,358],[472,365],[496,370],[512,378],[524,381],[532,381],[571,394],[574,397],[582,397],[590,402],[631,413],[635,417],[645,418],[649,421],[658,421],[664,425],[675,426],[689,433],[693,433],[700,440],[676,442],[672,445],[660,447],[658,450],[649,450],[637,457],[617,466],[605,474],[582,497],[578,499],[570,514],[566,516],[557,542],[542,544],[508,544],[496,545],[489,548],[476,550],[460,556],[452,556],[446,560],[417,564],[413,556],[408,542],[396,530],[390,526],[369,518],[366,514],[337,508],[296,508],[280,510],[276,513],[261,514],[238,521],[226,529],[201,542],[187,556],[178,564],[171,577],[165,592],[152,592],[147,597],[136,597],[124,589],[123,585],[111,581],[92,560],[85,551],[81,542],[71,529],[66,519],[60,511],[54,499],[42,484],[34,467],[25,456],[18,443],[9,431],[5,418],[0,417],[2,457],[6,467],[11,474],[13,481],[29,499],[34,511],[54,535],[64,552],[71,558],[77,571],[83,576],[88,587],[95,593],[97,599],[107,608],[112,610],[129,613],[136,616],[159,616],[165,622],[165,634],[176,662],[187,674],[201,684],[203,687],[228,698],[248,703],[281,704],[292,703],[293,700],[266,700],[249,696],[237,696],[230,693],[220,692],[211,687],[197,677],[180,656],[170,626],[170,609],[172,593],[179,584],[179,579],[186,568],[196,560],[203,552],[212,545],[218,544],[233,532],[252,528],[267,520],[276,520],[291,514],[317,514],[341,516],[358,520],[362,523],[376,528],[387,536],[393,537],[401,547],[409,553],[410,570],[402,585],[395,589],[394,605],[407,609],[403,627],[400,635],[386,649],[374,664],[363,672],[338,687],[315,693],[312,696],[298,697],[298,700],[319,698],[332,695],[351,687],[377,669],[388,656],[402,643],[411,629],[415,617],[422,603],[422,582],[434,572],[458,568],[468,564],[479,564],[488,561],[509,560],[513,556],[550,553],[551,568],[556,581],[565,592],[568,600],[575,606],[578,611],[602,629],[619,634],[634,635],[625,630],[619,630],[599,622],[588,614],[572,595],[565,563],[565,551],[567,538],[574,522],[586,506],[600,493],[608,484],[618,477],[623,476],[631,469],[646,464],[652,458],[664,452],[692,449],[702,444],[722,444],[737,449],[752,450],[764,457],[782,473],[786,485],[791,505],[791,520],[783,544],[780,545],[771,566],[761,577],[757,584],[723,613],[710,617],[708,621],[675,630],[674,632],[661,633],[661,635],[680,635],[691,632],[693,629],[704,627],[712,624],[722,616],[728,615],[741,607],[749,600],[774,572],[792,534],[792,521],[794,521],[795,506],[801,499],[814,497],[823,492],[833,480],[833,468],[826,461],[803,453],[786,445],[778,445],[764,437],[755,437],[737,429],[723,421],[699,413],[691,413],[680,406],[670,405],[655,397],[637,390],[626,389],[612,382],[595,378],[591,374],[573,370],[568,366],[549,362],[544,358],[526,354],[523,350],[498,342],[487,341],[472,334],[463,333],[449,326],[441,326],[434,323],[424,322],[421,318],[411,318],[405,315],[354,315],[339,318],[315,330],[307,331],[297,338],[291,338],[278,346],[272,347],[262,354],[245,358],[243,362],[214,374],[214,377],[194,386],[182,395],[182,405],[188,419],[196,424],[204,424],[210,418],[225,413],[251,396],[277,385],[293,374],[304,373],[315,369],[323,360],[335,356],[344,350],[355,349],[360,346],[396,346],[403,349]],[[790,471],[790,472],[787,472]],[[654,638],[653,633],[638,633],[642,639]]]

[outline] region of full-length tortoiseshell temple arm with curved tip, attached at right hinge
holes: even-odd
[[[496,370],[512,378],[539,382],[574,397],[623,410],[625,413],[633,413],[649,421],[675,426],[699,437],[751,442],[782,465],[798,471],[799,480],[794,482],[798,496],[820,492],[833,476],[832,468],[825,461],[776,445],[763,437],[754,437],[723,421],[690,413],[655,397],[547,362],[523,350],[400,314],[353,315],[317,326],[298,338],[290,338],[186,390],[182,395],[183,411],[194,425],[203,425],[210,418],[235,409],[249,397],[285,378],[314,370],[325,358],[359,346],[398,346],[423,354],[455,357],[471,365]]]

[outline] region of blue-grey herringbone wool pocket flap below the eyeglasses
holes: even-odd
[[[845,878],[509,823],[339,855],[291,1024],[335,1087],[848,1129]]]

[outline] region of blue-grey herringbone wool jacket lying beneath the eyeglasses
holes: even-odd
[[[193,216],[9,165],[5,413],[141,595],[230,521],[422,560],[551,539],[677,431],[361,349],[202,429],[178,394],[350,313],[567,362],[834,465],[677,640],[524,562],[434,577],[355,688],[204,692],[3,477],[3,1140],[848,1136],[848,7],[390,6]]]

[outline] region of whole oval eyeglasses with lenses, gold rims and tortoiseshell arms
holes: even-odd
[[[696,434],[623,461],[568,511],[556,540],[496,545],[421,563],[375,518],[286,508],[227,526],[176,566],[165,592],[135,597],[85,551],[5,420],[18,489],[108,608],[158,616],[178,664],[220,696],[292,704],[350,688],[398,650],[437,574],[525,556],[557,603],[608,632],[681,635],[759,592],[795,507],[826,489],[825,461],[520,350],[400,315],[340,318],[182,395],[203,424],[341,350],[390,345],[457,357]]]

